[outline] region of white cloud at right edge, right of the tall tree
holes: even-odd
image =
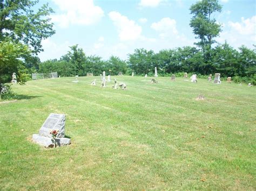
[[[234,30],[238,31],[239,34],[256,35],[256,16],[248,19],[242,17],[241,23],[228,22],[228,25],[231,26]]]

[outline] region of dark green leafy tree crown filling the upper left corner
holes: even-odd
[[[43,51],[41,41],[52,36],[48,4],[34,11],[38,0],[0,0],[0,40],[12,39],[28,45],[32,53]]]

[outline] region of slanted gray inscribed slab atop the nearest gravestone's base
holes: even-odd
[[[39,135],[44,137],[52,137],[50,132],[52,130],[58,130],[57,137],[65,136],[65,115],[64,114],[50,114],[45,120],[44,124],[39,130]]]

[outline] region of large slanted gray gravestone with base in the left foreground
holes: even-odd
[[[39,129],[39,134],[33,134],[32,140],[44,147],[53,147],[51,131],[56,130],[56,146],[63,146],[70,144],[70,139],[65,138],[65,115],[64,114],[50,114],[42,127]]]

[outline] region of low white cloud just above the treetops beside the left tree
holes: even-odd
[[[42,46],[44,52],[39,53],[38,56],[41,61],[45,61],[48,59],[59,59],[60,56],[68,53],[71,44],[69,41],[65,41],[62,44],[56,44],[51,39],[44,39],[42,40]]]

